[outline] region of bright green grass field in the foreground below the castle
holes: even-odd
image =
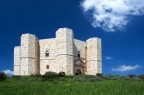
[[[144,81],[31,82],[6,80],[0,82],[0,95],[144,95]]]

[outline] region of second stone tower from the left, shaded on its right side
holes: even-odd
[[[21,36],[20,74],[35,75],[38,71],[38,39],[32,34]]]

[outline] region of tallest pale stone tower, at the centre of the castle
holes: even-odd
[[[73,60],[73,31],[68,28],[60,28],[56,32],[56,64],[59,70],[67,75],[74,74]]]

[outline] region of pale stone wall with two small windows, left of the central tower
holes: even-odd
[[[59,66],[55,62],[56,57],[56,41],[55,38],[39,40],[40,44],[40,74],[44,75],[45,72],[53,71],[59,72]],[[46,53],[49,56],[46,56]],[[47,66],[49,68],[47,68]]]

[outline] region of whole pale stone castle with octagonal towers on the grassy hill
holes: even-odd
[[[68,28],[58,29],[56,38],[50,39],[22,34],[21,45],[14,48],[14,75],[44,75],[48,71],[66,75],[102,73],[101,39],[80,41]]]

